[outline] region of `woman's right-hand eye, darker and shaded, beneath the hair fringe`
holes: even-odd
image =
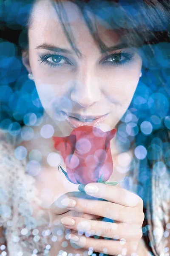
[[[130,62],[133,60],[133,55],[128,52],[119,52],[119,53],[113,53],[108,57],[105,58],[104,64],[111,64],[115,66],[122,66],[125,65],[127,62]]]

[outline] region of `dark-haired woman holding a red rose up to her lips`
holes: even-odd
[[[159,43],[166,34],[167,8],[167,2],[159,1],[133,1],[126,4],[123,1],[99,1],[96,6],[95,1],[73,3],[42,0],[31,5],[26,19],[28,41],[24,42],[23,33],[20,42],[25,46],[22,52],[23,64],[28,70],[29,79],[34,80],[45,114],[40,125],[33,127],[33,140],[24,139],[29,132],[22,130],[20,146],[14,153],[8,152],[13,158],[8,159],[7,153],[2,155],[7,158],[6,161],[2,158],[5,168],[15,158],[19,159],[19,167],[14,164],[15,170],[9,170],[7,177],[3,177],[4,169],[1,171],[3,193],[7,193],[6,201],[1,206],[2,230],[6,230],[11,255],[67,255],[65,252],[91,255],[93,251],[119,256],[142,256],[147,253],[157,256],[167,253],[170,247],[167,236],[170,209],[168,187],[163,191],[167,197],[165,194],[163,197],[160,190],[163,187],[157,185],[163,181],[158,179],[161,175],[156,175],[156,166],[149,179],[144,177],[144,172],[139,168],[140,165],[146,168],[150,164],[151,169],[154,164],[155,159],[151,157],[146,163],[144,147],[146,140],[154,136],[147,136],[151,132],[148,132],[146,125],[149,122],[146,121],[145,113],[142,113],[143,109],[141,112],[136,109],[135,115],[135,108],[130,108],[130,103],[135,103],[132,99],[138,93],[138,85],[139,90],[141,88],[139,80],[143,77],[153,78],[148,76],[147,71],[156,70],[159,66],[154,59],[154,51],[158,52],[158,49],[152,44]],[[141,96],[135,99],[137,102],[144,98]],[[153,111],[152,99],[150,109]],[[140,108],[140,104],[135,104]],[[130,111],[127,112],[127,109]],[[153,119],[154,116],[153,113]],[[133,122],[127,122],[125,119],[128,118]],[[96,122],[92,119],[99,120]],[[129,123],[126,129],[129,139],[122,122]],[[139,122],[144,134],[143,137],[136,137],[136,141],[138,132],[135,122]],[[127,185],[123,189],[120,184],[109,186],[95,183],[99,192],[89,193],[86,186],[85,192],[93,198],[84,199],[78,185],[68,183],[61,172],[56,174],[57,166],[63,169],[66,166],[63,159],[54,153],[52,136],[69,136],[73,129],[85,124],[96,125],[103,131],[118,129],[119,136],[111,140],[115,169],[108,181],[122,180],[127,173],[128,180],[133,179],[133,189]],[[165,136],[162,140],[166,139]],[[132,146],[127,147],[128,143]],[[126,150],[122,150],[122,145],[126,145]],[[35,156],[34,151],[32,156],[33,150],[38,150],[41,160],[35,161],[37,154]],[[4,144],[1,151],[4,151]],[[153,151],[155,153],[156,149],[153,148]],[[23,152],[29,154],[27,159],[21,161]],[[131,160],[135,157],[131,168]],[[159,165],[157,169],[160,166],[164,167]],[[14,178],[13,173],[17,177]],[[12,191],[6,186],[9,174],[12,176]],[[167,175],[168,181],[168,169],[163,174]],[[140,175],[143,175],[141,180]],[[141,193],[140,187],[147,189],[146,194]],[[77,192],[77,197],[71,193],[73,191]],[[156,193],[160,193],[159,204],[155,201]],[[62,204],[65,195],[66,205]],[[95,200],[97,198],[105,201]],[[159,215],[161,200],[165,203],[163,217]],[[72,206],[68,207],[71,203]],[[146,211],[145,218],[143,210]],[[105,222],[96,221],[101,217],[106,218]],[[143,237],[142,231],[145,233]],[[69,233],[72,235],[68,236]],[[73,242],[70,238],[73,238],[74,233],[77,240]]]

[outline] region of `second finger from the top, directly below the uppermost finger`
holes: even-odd
[[[69,200],[73,200],[73,198],[67,198],[67,205],[69,205]],[[76,202],[74,211],[77,212],[100,215],[104,218],[126,223],[142,224],[144,220],[143,210],[139,210],[138,207],[125,207],[120,204],[115,204],[108,201],[81,198],[74,198],[74,201]],[[70,208],[68,207],[68,209]]]

